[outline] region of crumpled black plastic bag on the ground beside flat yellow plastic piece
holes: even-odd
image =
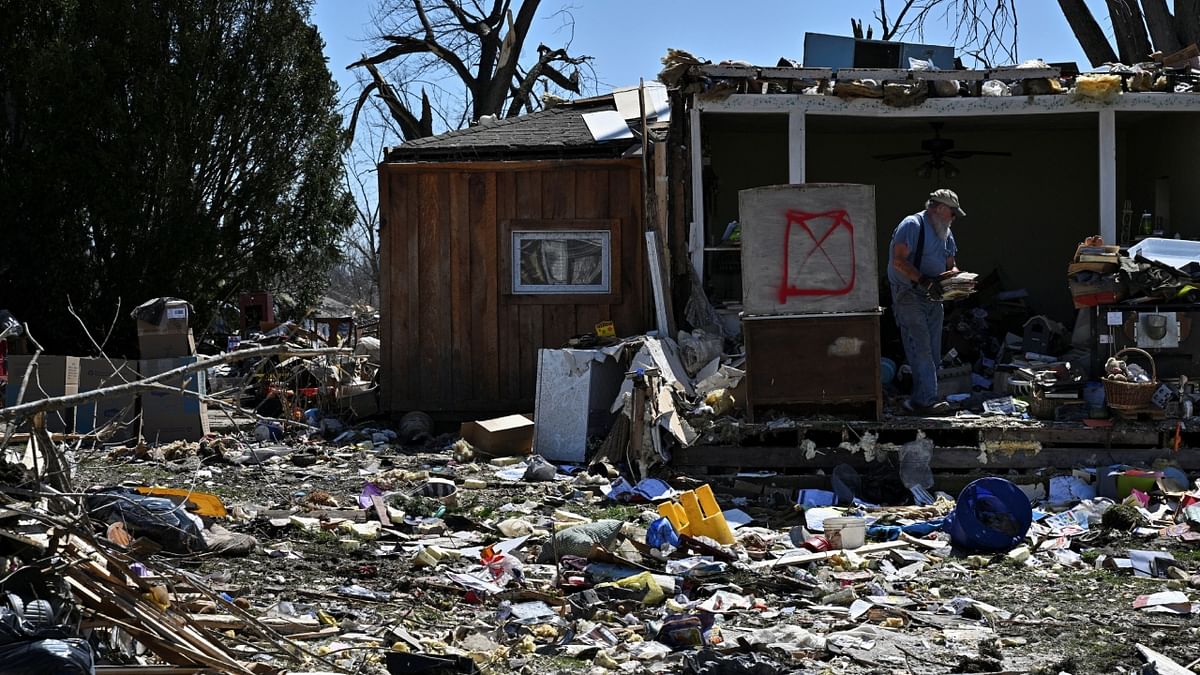
[[[106,525],[124,522],[134,537],[148,537],[176,554],[204,552],[200,528],[175,502],[139,495],[125,488],[108,488],[88,495],[88,514]]]

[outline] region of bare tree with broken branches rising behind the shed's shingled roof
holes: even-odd
[[[380,50],[350,64],[367,72],[350,115],[350,133],[376,94],[406,139],[433,135],[433,115],[460,129],[485,115],[512,118],[540,107],[535,86],[578,94],[580,68],[569,44],[539,44],[532,62],[521,54],[541,0],[379,0],[373,23]],[[568,11],[564,22],[572,25]],[[380,66],[390,70],[382,72]],[[430,91],[434,95],[431,100]]]

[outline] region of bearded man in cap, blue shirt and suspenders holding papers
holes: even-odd
[[[942,286],[938,277],[956,273],[958,244],[950,223],[965,216],[959,196],[935,190],[925,210],[900,221],[892,233],[892,311],[900,327],[905,357],[912,369],[912,395],[904,402],[913,414],[947,414],[949,404],[937,396],[937,366],[942,362]]]

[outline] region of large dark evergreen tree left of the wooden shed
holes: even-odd
[[[311,0],[0,0],[0,306],[85,353],[128,311],[206,324],[241,291],[324,288],[353,220]]]

